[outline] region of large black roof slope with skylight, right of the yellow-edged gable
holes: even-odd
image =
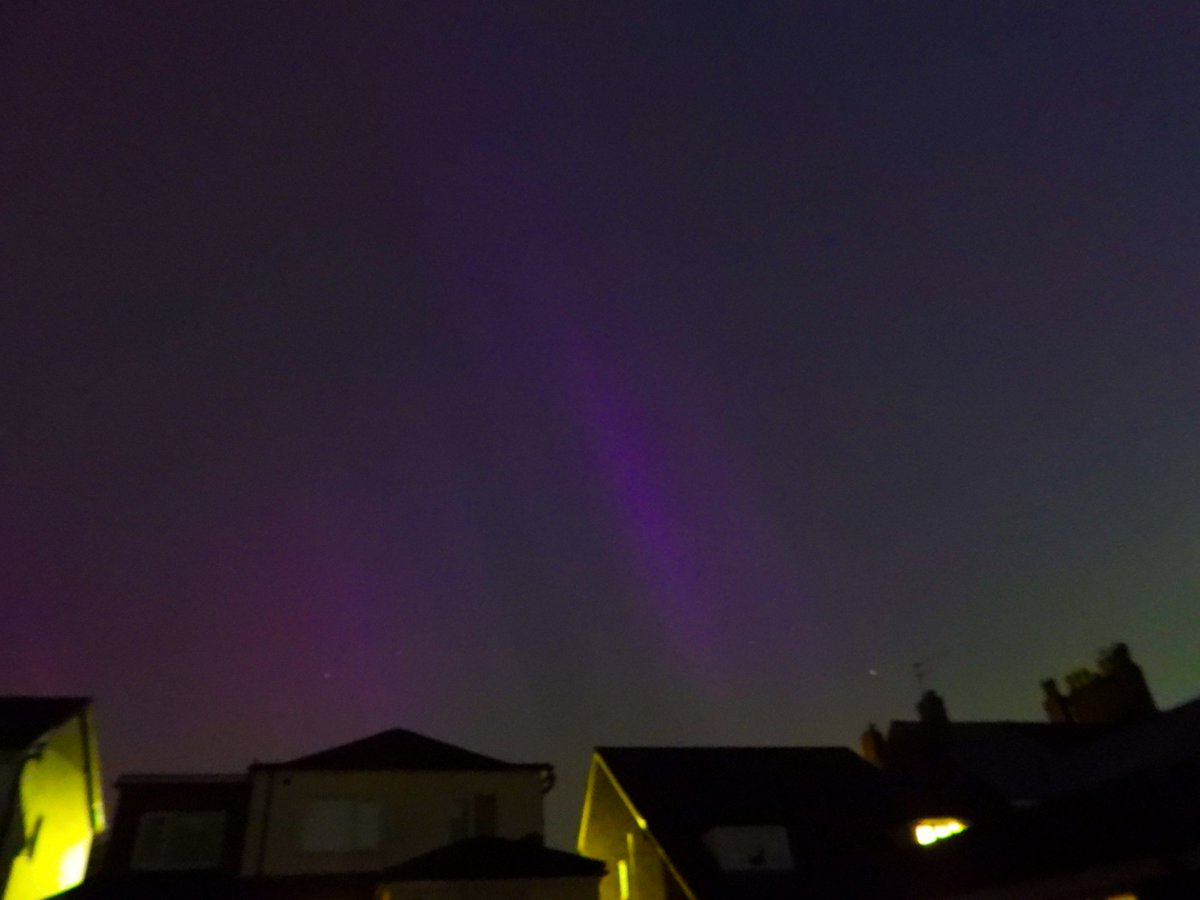
[[[598,748],[647,830],[697,894],[785,898],[890,895],[898,829],[916,818],[884,772],[846,748]],[[786,829],[794,865],[722,871],[714,828]]]

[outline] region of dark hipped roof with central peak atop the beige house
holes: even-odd
[[[259,764],[263,766],[262,763]],[[271,768],[413,772],[499,772],[503,769],[551,769],[550,763],[515,763],[464,750],[407,728],[391,728],[368,738],[300,756]]]

